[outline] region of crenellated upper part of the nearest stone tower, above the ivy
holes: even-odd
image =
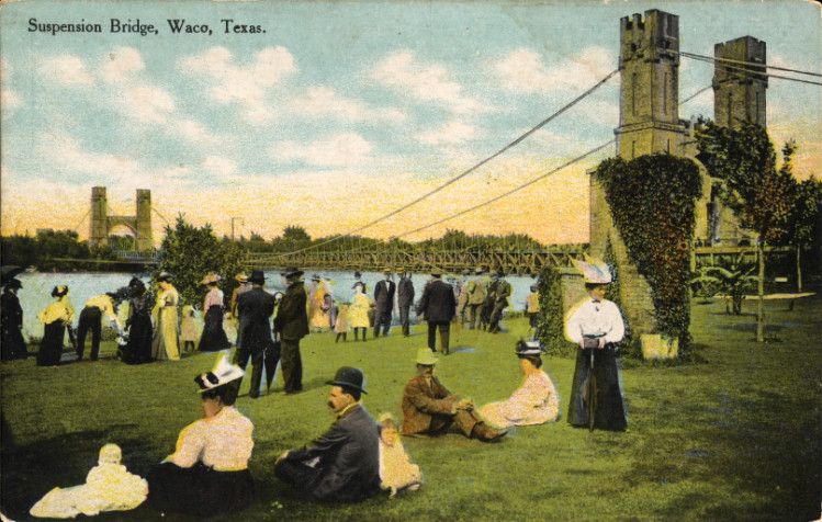
[[[679,16],[657,10],[620,20],[617,154],[680,155],[686,126],[679,122]]]

